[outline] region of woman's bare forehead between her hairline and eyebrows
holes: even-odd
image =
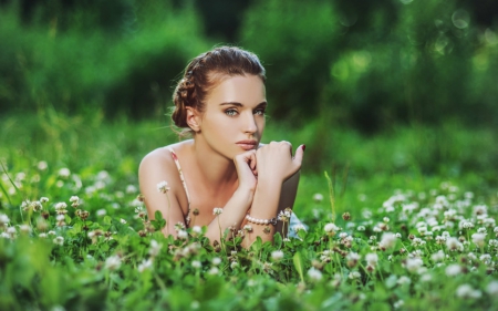
[[[266,89],[257,75],[235,75],[222,77],[207,94],[207,103],[237,102],[247,105],[266,101]]]

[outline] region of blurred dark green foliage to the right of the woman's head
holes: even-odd
[[[257,1],[243,45],[269,70],[272,113],[364,132],[393,123],[498,122],[498,39],[457,1],[388,1],[355,25],[335,1]],[[404,4],[405,2],[406,4]]]

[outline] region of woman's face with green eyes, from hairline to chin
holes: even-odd
[[[258,147],[266,107],[264,84],[259,76],[225,77],[207,94],[199,134],[211,149],[232,159]]]

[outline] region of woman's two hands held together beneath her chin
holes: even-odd
[[[300,168],[304,146],[295,149],[292,156],[292,145],[289,142],[271,142],[257,151],[249,151],[234,158],[239,188],[256,190],[259,180],[283,183]]]

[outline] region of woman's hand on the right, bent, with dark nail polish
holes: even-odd
[[[271,142],[256,152],[260,179],[283,183],[300,168],[304,154],[304,145],[295,149],[292,157],[292,145],[289,142]]]

